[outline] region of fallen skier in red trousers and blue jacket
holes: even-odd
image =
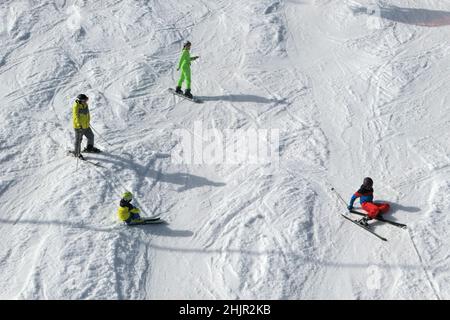
[[[374,203],[373,202],[373,180],[369,177],[364,178],[362,186],[356,191],[350,199],[348,210],[353,209],[353,203],[360,198],[361,207],[367,211],[367,217],[361,219],[361,224],[367,225],[367,221],[376,218],[379,214],[389,211],[388,203]]]

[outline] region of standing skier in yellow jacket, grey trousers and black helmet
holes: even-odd
[[[72,107],[72,120],[73,128],[75,130],[75,149],[73,154],[84,160],[81,155],[81,141],[83,136],[88,139],[87,147],[83,152],[100,152],[99,149],[94,147],[94,133],[90,127],[91,116],[88,106],[89,98],[85,94],[79,94]]]

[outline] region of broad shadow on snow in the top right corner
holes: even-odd
[[[450,25],[450,12],[441,10],[428,10],[416,8],[401,8],[397,6],[386,7],[352,7],[356,15],[367,14],[369,16],[391,20],[394,22],[423,26],[443,27]]]

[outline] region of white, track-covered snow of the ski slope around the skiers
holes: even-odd
[[[0,298],[450,297],[448,4],[71,5],[0,5]],[[167,92],[186,39],[203,104]],[[65,156],[79,92],[100,167]],[[279,167],[172,163],[196,121],[279,129]],[[367,175],[387,243],[329,190]],[[125,189],[169,224],[120,226]]]

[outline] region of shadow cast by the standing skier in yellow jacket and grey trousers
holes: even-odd
[[[214,182],[208,180],[207,178],[196,176],[190,173],[183,173],[183,172],[163,173],[161,171],[157,171],[152,168],[156,159],[169,158],[170,155],[168,154],[157,154],[146,165],[141,165],[123,156],[115,155],[108,152],[104,153],[107,154],[107,157],[101,157],[98,158],[98,160],[101,160],[102,162],[110,162],[113,165],[118,166],[119,168],[126,167],[128,169],[132,169],[136,171],[138,177],[146,176],[153,178],[155,181],[179,185],[180,187],[177,189],[178,192],[199,188],[203,186],[212,186],[212,187],[225,186],[225,183]]]

